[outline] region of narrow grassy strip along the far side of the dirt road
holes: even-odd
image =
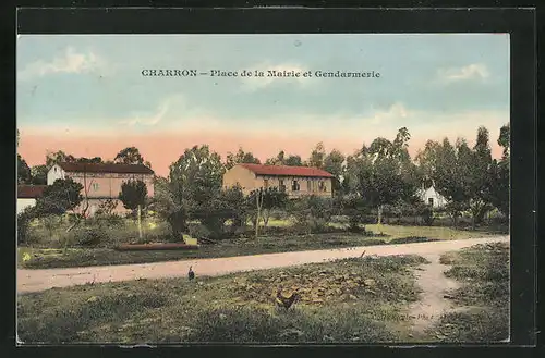
[[[282,221],[278,222],[282,225],[284,224]],[[377,225],[366,225],[365,227],[368,232],[366,235],[340,232],[311,234],[306,236],[263,236],[257,240],[221,240],[218,244],[203,245],[199,249],[190,251],[117,251],[112,248],[69,248],[66,252],[63,252],[61,249],[20,247],[19,266],[25,269],[49,269],[144,263],[437,239],[462,239],[489,235],[489,233],[485,232],[461,231],[438,226],[380,225],[378,227]],[[377,233],[383,233],[383,235],[377,235]]]

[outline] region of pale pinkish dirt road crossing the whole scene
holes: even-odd
[[[143,264],[102,266],[50,270],[17,270],[17,293],[29,293],[82,285],[89,282],[120,282],[137,279],[165,279],[185,276],[193,266],[198,276],[215,276],[232,272],[282,268],[312,262],[324,262],[365,255],[420,255],[437,258],[447,251],[476,244],[509,242],[509,236],[472,238],[461,240],[429,242],[400,245],[362,246],[332,250],[313,250],[252,255],[217,259],[196,259]]]

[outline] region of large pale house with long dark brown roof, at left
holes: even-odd
[[[143,164],[109,163],[57,163],[47,174],[47,184],[58,178],[71,177],[84,186],[82,195],[88,200],[87,213],[93,215],[100,203],[112,199],[116,203],[112,212],[126,213],[119,200],[121,185],[130,180],[140,180],[146,184],[148,197],[154,196],[154,171]],[[75,211],[82,209],[83,203]]]

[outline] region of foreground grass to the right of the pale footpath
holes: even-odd
[[[509,336],[509,246],[476,245],[449,252],[445,272],[461,282],[455,294],[459,308],[433,329],[446,342],[499,342]]]

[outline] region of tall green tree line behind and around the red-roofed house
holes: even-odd
[[[155,196],[145,205],[171,226],[174,237],[187,231],[187,223],[198,220],[213,237],[221,237],[225,223],[245,226],[250,221],[258,235],[258,223],[265,225],[275,209],[289,210],[298,222],[319,226],[331,214],[343,214],[351,227],[358,227],[364,214],[373,213],[377,222],[385,211],[412,211],[429,218],[432,208],[421,199],[421,190],[433,186],[446,198],[446,210],[457,225],[469,212],[473,225],[487,212],[498,209],[509,217],[509,125],[500,129],[497,143],[504,148],[499,160],[492,158],[489,133],[480,127],[473,147],[459,138],[455,144],[445,138],[429,140],[412,159],[408,147],[411,135],[405,127],[392,139],[376,138],[367,147],[344,157],[339,150],[327,152],[318,143],[306,160],[280,151],[269,158],[270,165],[308,165],[326,170],[335,176],[331,199],[304,198],[288,200],[278,188],[258,188],[244,196],[241,187],[223,188],[223,173],[238,163],[261,163],[252,152],[239,148],[226,161],[207,145],[187,148],[169,168],[167,177],[156,176]],[[72,159],[63,152],[48,156],[46,166],[56,160]],[[88,159],[101,162],[101,159]],[[100,160],[100,161],[99,161]],[[144,163],[136,148],[126,148],[117,162]],[[409,209],[408,209],[409,208]]]

